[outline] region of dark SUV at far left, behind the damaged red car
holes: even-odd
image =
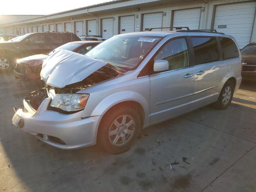
[[[0,42],[0,72],[12,71],[18,58],[42,54],[72,41],[80,41],[80,38],[68,32],[42,32]]]

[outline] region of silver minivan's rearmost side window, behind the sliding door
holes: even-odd
[[[232,39],[226,37],[219,37],[219,39],[224,60],[239,57],[238,48]]]

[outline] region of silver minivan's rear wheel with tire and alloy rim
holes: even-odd
[[[220,110],[224,110],[228,108],[230,105],[234,94],[234,84],[231,81],[227,81],[218,97],[218,101],[216,102],[216,108]]]

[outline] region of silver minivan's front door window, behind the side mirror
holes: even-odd
[[[186,40],[181,38],[168,42],[154,58],[154,60],[159,59],[169,62],[169,70],[188,67],[188,48]]]

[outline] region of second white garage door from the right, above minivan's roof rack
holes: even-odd
[[[201,16],[201,8],[175,10],[173,16],[174,27],[189,27],[198,30]]]

